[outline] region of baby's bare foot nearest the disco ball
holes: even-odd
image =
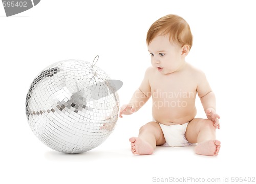
[[[154,151],[149,143],[141,140],[139,137],[131,137],[129,141],[131,142],[133,154],[147,155],[152,154]]]

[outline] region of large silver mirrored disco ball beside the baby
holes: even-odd
[[[114,81],[114,82],[113,82]],[[40,141],[64,153],[99,146],[118,120],[118,88],[99,67],[81,60],[54,63],[34,79],[26,98],[28,123]]]

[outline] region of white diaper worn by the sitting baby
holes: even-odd
[[[162,146],[180,147],[193,145],[190,144],[185,137],[188,122],[182,125],[164,125],[161,123],[159,123],[159,125],[162,128],[166,141]]]

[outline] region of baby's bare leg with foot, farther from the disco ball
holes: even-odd
[[[195,147],[197,154],[213,156],[218,155],[221,147],[215,133],[212,121],[196,118],[188,123],[185,136],[189,143],[198,143]]]

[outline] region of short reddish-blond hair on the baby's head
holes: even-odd
[[[167,34],[170,42],[180,44],[181,47],[186,44],[191,49],[193,36],[189,25],[182,17],[173,14],[163,16],[151,25],[146,35],[146,43],[148,45],[156,36]]]

